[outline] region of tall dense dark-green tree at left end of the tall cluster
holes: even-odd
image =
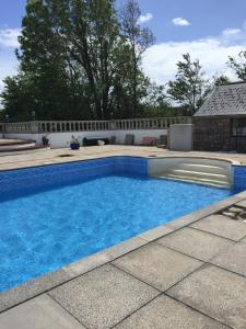
[[[32,110],[37,118],[69,117],[71,95],[66,75],[62,45],[55,32],[49,3],[30,0],[19,37],[20,86],[25,86],[32,102],[26,103],[23,115]],[[22,90],[22,89],[20,89]]]

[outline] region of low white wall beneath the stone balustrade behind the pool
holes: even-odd
[[[156,137],[167,135],[167,129],[136,129],[136,131],[96,131],[96,132],[69,132],[69,133],[48,133],[48,138],[51,148],[69,147],[71,136],[80,137],[83,141],[84,137],[116,137],[116,144],[124,144],[126,135],[134,135],[134,144],[140,145],[143,137]],[[25,134],[25,133],[7,133],[5,138],[32,139],[36,140],[37,145],[42,145],[42,137],[46,134]]]

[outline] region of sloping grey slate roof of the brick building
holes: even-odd
[[[215,87],[194,116],[246,115],[246,82]]]

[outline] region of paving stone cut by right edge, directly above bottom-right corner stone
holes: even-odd
[[[235,243],[211,262],[246,276],[246,245]]]

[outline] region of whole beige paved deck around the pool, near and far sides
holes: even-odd
[[[104,146],[0,157],[0,170],[108,156],[245,155]],[[0,294],[0,328],[246,328],[246,192]]]

